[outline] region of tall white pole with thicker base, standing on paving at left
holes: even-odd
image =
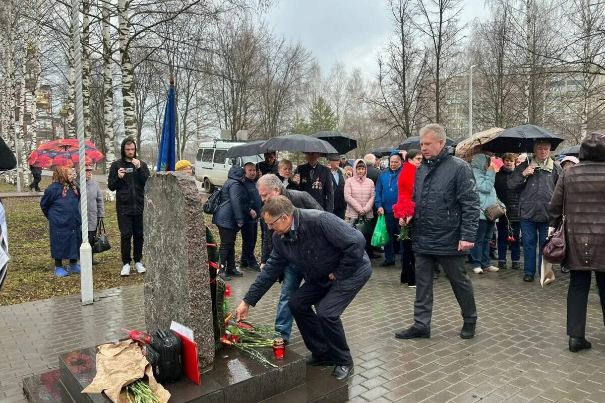
[[[80,213],[82,216],[82,245],[80,246],[80,300],[82,304],[91,304],[93,294],[93,251],[88,243],[88,200],[86,185],[86,155],[84,152],[84,109],[82,100],[82,49],[80,48],[80,0],[71,0],[71,28],[73,30],[74,70],[76,77],[75,95],[76,110],[74,111],[74,126],[78,139],[80,155]]]

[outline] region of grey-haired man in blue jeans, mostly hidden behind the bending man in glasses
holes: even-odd
[[[308,208],[312,210],[323,210],[321,206],[307,192],[299,192],[298,190],[287,190],[283,182],[276,175],[265,175],[257,182],[258,194],[261,201],[266,202],[277,196],[285,196],[297,208]],[[273,230],[267,228],[262,234],[263,248],[261,256],[261,268],[269,260],[269,256],[273,251]],[[284,341],[290,340],[292,334],[292,323],[294,317],[288,301],[292,294],[301,286],[304,279],[304,272],[298,269],[296,265],[290,264],[284,269],[284,279],[281,282],[280,301],[277,304],[277,314],[275,315],[275,334],[280,335]]]

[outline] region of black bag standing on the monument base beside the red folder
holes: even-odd
[[[168,384],[181,378],[181,338],[172,330],[157,329],[151,337],[151,343],[146,346],[145,356],[159,384]]]

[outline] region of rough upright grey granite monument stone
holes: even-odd
[[[190,327],[204,372],[214,361],[215,341],[202,205],[185,173],[159,172],[145,186],[146,329],[168,329],[172,320]]]

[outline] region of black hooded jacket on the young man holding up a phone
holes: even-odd
[[[139,169],[134,167],[130,161],[126,161],[124,146],[126,141],[132,141],[126,137],[122,141],[122,158],[111,163],[110,175],[107,178],[107,187],[116,192],[116,212],[118,214],[143,214],[145,206],[145,184],[149,179],[149,169],[147,164],[141,161]],[[135,144],[136,147],[136,144]],[[137,158],[136,148],[134,158]],[[117,170],[120,168],[132,168],[132,172],[126,173],[123,178],[117,176]]]

